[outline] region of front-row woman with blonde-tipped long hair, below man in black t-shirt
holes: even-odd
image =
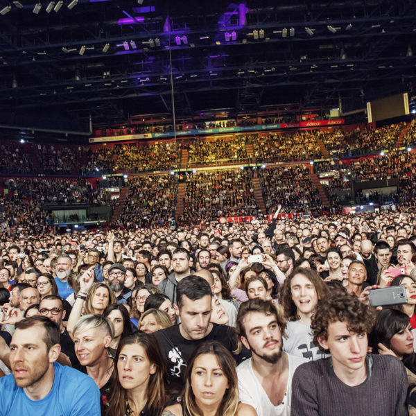
[[[236,362],[218,341],[200,344],[185,370],[180,403],[168,406],[163,416],[257,416],[248,404],[239,403]]]

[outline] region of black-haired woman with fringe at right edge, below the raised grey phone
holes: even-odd
[[[372,352],[399,358],[406,367],[408,382],[416,382],[416,354],[410,320],[396,309],[381,309],[370,333]]]

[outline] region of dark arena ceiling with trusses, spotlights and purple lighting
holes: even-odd
[[[413,93],[415,33],[413,0],[0,0],[0,126],[169,114],[172,87],[178,118],[349,112]]]

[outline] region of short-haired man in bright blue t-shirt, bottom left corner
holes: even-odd
[[[60,331],[44,316],[16,324],[10,343],[12,374],[0,379],[0,416],[99,416],[100,392],[94,380],[55,363]]]

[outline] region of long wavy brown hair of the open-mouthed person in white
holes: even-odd
[[[304,277],[313,283],[316,294],[318,295],[318,300],[324,299],[329,294],[328,286],[318,275],[318,272],[306,267],[295,268],[295,270],[291,272],[291,275],[289,275],[284,281],[284,285],[282,286],[280,293],[280,304],[283,306],[285,318],[289,321],[296,321],[300,319],[300,316],[297,314],[297,307],[292,299],[291,281],[296,275],[304,275]]]

